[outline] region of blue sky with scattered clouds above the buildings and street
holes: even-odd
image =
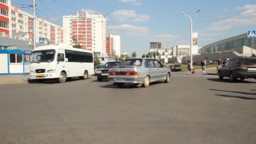
[[[31,3],[31,0],[12,0],[15,3]],[[189,18],[180,14],[193,15],[193,32],[198,32],[198,45],[204,46],[224,38],[256,29],[256,13],[219,19],[256,11],[255,0],[40,0],[56,16],[75,15],[76,11],[89,10],[109,16],[107,32],[121,36],[121,51],[138,55],[149,51],[150,41],[162,41],[165,35],[166,47],[189,45]],[[67,3],[73,5],[68,5]],[[59,4],[61,3],[61,4]],[[41,16],[51,17],[48,11],[36,0],[37,11]],[[65,5],[65,6],[64,6]],[[116,6],[115,6],[116,5]],[[115,6],[115,7],[114,7]],[[18,7],[21,7],[18,5]],[[114,8],[113,8],[114,7]],[[24,11],[32,13],[26,8]],[[43,13],[42,13],[43,12]],[[51,19],[62,24],[59,19]],[[186,29],[187,28],[187,29]],[[183,34],[182,34],[183,32]],[[182,34],[182,35],[181,35]]]

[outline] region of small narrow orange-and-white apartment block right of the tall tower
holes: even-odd
[[[107,55],[121,56],[121,41],[119,35],[106,35],[106,53]]]

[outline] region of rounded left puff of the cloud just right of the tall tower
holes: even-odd
[[[111,15],[115,21],[125,21],[126,19],[136,17],[137,13],[133,10],[118,10],[114,11]]]

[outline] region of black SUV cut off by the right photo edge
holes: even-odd
[[[227,61],[219,68],[219,79],[230,77],[230,81],[235,82],[237,78],[256,79],[256,57],[236,57]]]

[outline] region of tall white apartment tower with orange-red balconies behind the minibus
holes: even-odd
[[[106,19],[101,14],[77,12],[75,16],[63,16],[63,27],[67,29],[64,43],[79,43],[83,49],[104,55],[106,53]]]

